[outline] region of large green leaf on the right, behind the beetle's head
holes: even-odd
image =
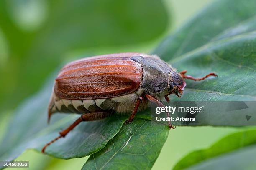
[[[189,125],[256,125],[255,119],[248,123],[245,117],[254,114],[256,100],[255,8],[254,0],[215,1],[154,50],[153,53],[178,71],[187,70],[187,75],[218,74],[218,78],[203,81],[186,80],[187,86],[179,101],[209,101],[208,105],[210,102],[224,104],[221,101],[254,101],[248,109],[235,114],[216,111],[218,107],[212,112],[206,108],[207,114],[195,115],[198,122]],[[173,96],[171,100],[178,98]]]

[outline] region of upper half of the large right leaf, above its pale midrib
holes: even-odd
[[[255,7],[255,0],[216,0],[161,42],[153,53],[167,61],[178,58],[211,42],[223,32],[230,32],[241,23],[255,19]],[[250,30],[255,30],[255,25],[246,31]],[[246,31],[240,27],[234,33]]]

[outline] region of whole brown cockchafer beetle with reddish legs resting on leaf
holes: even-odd
[[[55,112],[82,114],[72,125],[61,131],[59,137],[82,121],[100,120],[113,111],[131,113],[131,122],[138,110],[144,110],[148,101],[164,107],[159,100],[168,95],[178,97],[186,86],[184,79],[204,80],[177,73],[156,55],[120,53],[84,58],[64,66],[55,80],[54,90],[48,107],[48,120]],[[132,110],[132,111],[131,111]],[[168,113],[167,113],[168,114]],[[169,127],[174,128],[169,122]]]

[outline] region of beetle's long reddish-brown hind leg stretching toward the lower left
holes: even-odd
[[[44,147],[42,148],[41,152],[44,153],[46,147],[48,147],[49,145],[54,143],[59,138],[64,138],[80,122],[100,120],[100,119],[103,119],[105,117],[108,117],[109,115],[110,115],[110,112],[95,112],[95,113],[85,113],[85,114],[82,114],[81,117],[79,117],[74,123],[72,123],[72,125],[70,125],[67,129],[62,130],[59,133],[59,136],[57,138],[55,138],[54,140],[51,140],[51,142],[49,142],[46,145],[44,145]]]

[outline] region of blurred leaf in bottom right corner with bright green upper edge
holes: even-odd
[[[181,169],[253,169],[255,168],[256,129],[228,135],[210,146],[182,158],[174,167]]]

